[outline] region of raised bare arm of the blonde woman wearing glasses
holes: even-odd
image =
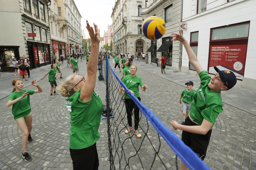
[[[84,84],[84,86],[81,89],[81,94],[80,94],[80,100],[83,102],[88,102],[92,98],[92,93],[95,88],[95,83],[96,83],[96,74],[97,74],[97,69],[98,69],[98,58],[99,58],[99,44],[100,44],[100,30],[98,29],[97,25],[94,25],[94,30],[93,27],[91,27],[86,21],[86,28],[88,30],[88,33],[91,38],[91,53],[87,65],[87,79]]]

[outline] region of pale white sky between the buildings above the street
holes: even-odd
[[[81,18],[81,28],[84,30],[84,38],[89,38],[86,29],[86,20],[90,26],[93,23],[97,24],[100,29],[100,37],[104,36],[104,29],[107,31],[107,26],[112,24],[111,14],[115,0],[74,0],[78,8]]]

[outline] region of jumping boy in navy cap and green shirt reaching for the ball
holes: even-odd
[[[193,96],[189,116],[185,124],[178,124],[172,120],[173,129],[182,130],[182,141],[189,146],[200,159],[204,160],[207,147],[211,137],[211,129],[218,117],[223,112],[223,103],[220,92],[229,90],[235,86],[237,79],[235,74],[229,70],[219,70],[214,67],[216,74],[214,77],[202,69],[199,61],[181,31],[173,33],[172,41],[180,41],[185,47],[190,64],[193,65],[200,77],[201,83],[196,94]],[[187,166],[182,162],[181,169],[187,170]]]

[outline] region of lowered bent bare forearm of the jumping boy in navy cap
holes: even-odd
[[[181,125],[178,124],[176,121],[172,120],[171,125],[173,126],[173,129],[177,130],[180,129],[182,131],[187,131],[190,133],[195,133],[195,134],[202,134],[205,135],[213,125],[213,123],[208,122],[205,118],[202,121],[201,125],[195,125],[195,126],[187,126],[187,125]]]

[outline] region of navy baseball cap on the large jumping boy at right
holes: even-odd
[[[227,90],[233,88],[237,83],[237,77],[234,72],[229,70],[220,70],[216,66],[214,66],[216,72],[219,73],[221,80],[224,82],[224,85],[228,88]]]

